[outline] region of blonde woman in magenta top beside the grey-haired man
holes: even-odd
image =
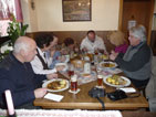
[[[113,45],[115,45],[115,53],[126,53],[128,44],[123,32],[114,31],[110,34],[108,40]]]

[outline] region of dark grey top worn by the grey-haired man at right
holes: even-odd
[[[152,55],[150,47],[144,42],[137,46],[129,46],[124,56],[118,54],[115,62],[127,77],[145,81],[150,76]]]

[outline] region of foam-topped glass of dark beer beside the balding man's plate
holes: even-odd
[[[76,92],[77,91],[77,75],[73,75],[71,77],[71,91]]]

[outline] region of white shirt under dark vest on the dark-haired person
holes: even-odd
[[[44,60],[45,63],[48,63],[46,59],[44,57],[44,53],[42,52],[39,47],[38,47],[39,54],[42,56],[42,59]],[[42,62],[40,61],[40,59],[35,55],[34,60],[31,61],[31,66],[34,71],[35,74],[51,74],[51,73],[55,73],[56,70],[43,70],[43,65]]]

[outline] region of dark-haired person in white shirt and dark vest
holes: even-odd
[[[56,71],[61,71],[61,67],[56,67],[50,70],[48,64],[48,59],[45,57],[45,53],[50,51],[50,49],[58,44],[58,38],[53,38],[51,34],[39,35],[35,39],[37,42],[37,55],[33,61],[31,61],[32,68],[35,74],[51,74],[53,77],[58,77],[54,74]]]

